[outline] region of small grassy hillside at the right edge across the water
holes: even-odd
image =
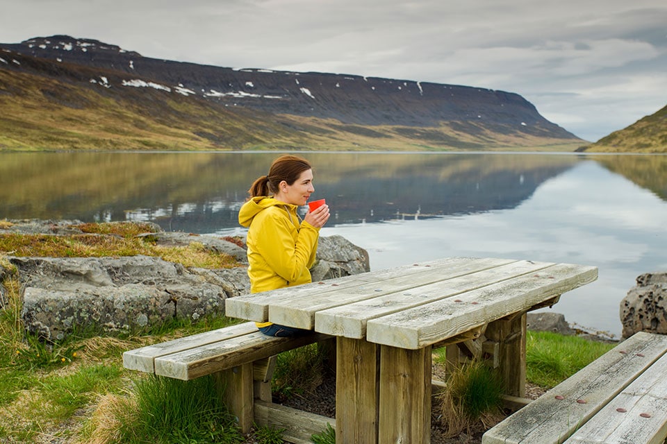
[[[667,153],[667,106],[578,151],[586,153]]]

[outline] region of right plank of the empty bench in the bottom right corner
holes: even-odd
[[[602,407],[566,444],[662,444],[667,436],[665,375],[667,355]]]

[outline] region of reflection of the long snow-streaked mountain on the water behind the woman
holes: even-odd
[[[167,230],[236,227],[274,153],[1,155],[0,217],[156,221]],[[308,153],[336,223],[484,212],[518,205],[577,162],[557,155]]]

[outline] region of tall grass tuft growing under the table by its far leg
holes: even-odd
[[[459,366],[446,383],[438,397],[446,436],[458,436],[475,424],[486,428],[502,416],[502,382],[484,362]]]

